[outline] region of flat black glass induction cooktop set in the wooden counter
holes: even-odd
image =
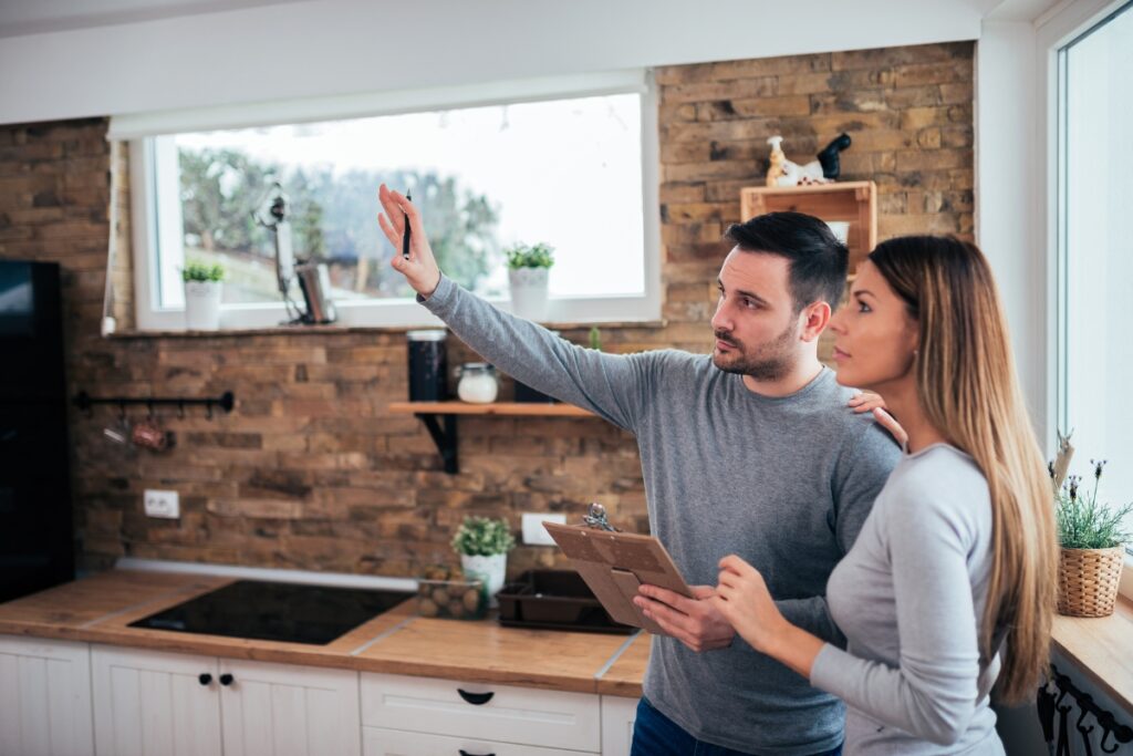
[[[237,580],[130,627],[322,646],[411,595],[404,591]]]

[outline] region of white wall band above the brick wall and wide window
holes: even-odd
[[[0,124],[979,36],[993,0],[304,0],[0,37]]]

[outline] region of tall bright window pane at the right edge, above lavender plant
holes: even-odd
[[[1058,425],[1083,477],[1108,460],[1099,499],[1111,506],[1133,500],[1130,124],[1133,3],[1058,52]]]

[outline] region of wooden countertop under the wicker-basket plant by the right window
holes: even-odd
[[[1109,617],[1055,615],[1054,646],[1115,703],[1133,713],[1133,602],[1119,597]],[[1071,670],[1062,670],[1070,673]]]

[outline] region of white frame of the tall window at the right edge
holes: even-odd
[[[1042,176],[1039,206],[1045,212],[1046,269],[1047,269],[1047,375],[1055,376],[1047,384],[1047,442],[1054,448],[1055,431],[1063,430],[1065,418],[1065,334],[1063,313],[1065,298],[1065,229],[1063,221],[1063,171],[1065,125],[1062,122],[1062,56],[1064,48],[1122,9],[1128,0],[1083,0],[1059,3],[1034,22],[1036,66],[1039,79],[1038,114],[1045,133],[1039,139],[1040,156],[1046,165]],[[1125,568],[1122,571],[1121,594],[1133,601],[1133,544],[1126,544]]]

